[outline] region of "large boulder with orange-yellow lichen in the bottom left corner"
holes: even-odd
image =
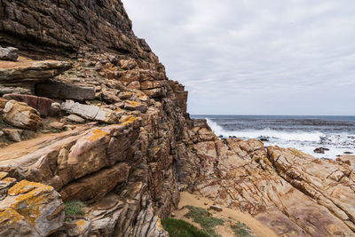
[[[47,236],[63,225],[64,218],[64,203],[54,188],[28,180],[12,186],[0,202],[0,233],[10,236]],[[4,225],[9,230],[4,231]]]

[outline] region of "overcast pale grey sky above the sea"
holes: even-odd
[[[354,0],[123,0],[192,115],[355,115]]]

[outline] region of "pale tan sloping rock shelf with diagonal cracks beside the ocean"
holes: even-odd
[[[179,150],[187,190],[247,211],[280,236],[353,236],[355,157],[319,160],[258,140],[221,141],[201,127],[190,134],[191,149]]]

